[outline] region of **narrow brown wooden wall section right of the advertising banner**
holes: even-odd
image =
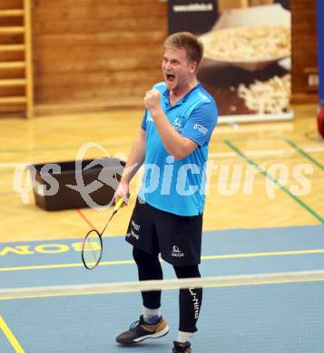
[[[291,91],[292,102],[318,100],[316,86],[309,86],[309,74],[316,74],[316,0],[290,0],[291,7]]]

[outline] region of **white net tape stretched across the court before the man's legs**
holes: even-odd
[[[158,291],[188,288],[236,287],[245,285],[324,281],[324,270],[304,272],[274,272],[248,275],[189,278],[159,281],[126,281],[95,284],[73,284],[45,287],[0,289],[0,300],[37,297],[57,297],[123,293],[130,291]]]

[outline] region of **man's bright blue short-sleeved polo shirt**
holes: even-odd
[[[218,119],[215,100],[201,83],[172,106],[165,82],[157,83],[153,89],[160,91],[162,110],[172,127],[195,141],[198,148],[187,157],[174,159],[164,148],[150,111],[145,110],[145,161],[139,196],[149,205],[175,215],[202,214],[208,144]]]

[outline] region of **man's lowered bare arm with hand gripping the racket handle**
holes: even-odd
[[[127,158],[126,165],[123,169],[123,175],[117,190],[114,194],[115,202],[123,197],[125,203],[128,203],[129,184],[133,179],[133,176],[137,173],[138,169],[142,166],[145,159],[145,138],[146,131],[141,129],[139,135],[133,142],[133,146]]]

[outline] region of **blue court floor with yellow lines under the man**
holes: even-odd
[[[80,240],[0,243],[0,287],[136,281],[122,237],[105,239],[103,262],[81,264]],[[162,262],[165,278],[175,278]],[[324,270],[324,226],[239,229],[203,235],[201,274]],[[141,312],[141,294],[0,298],[0,352],[171,352],[178,329],[178,291],[163,291],[162,339],[120,347],[114,338]],[[324,281],[278,282],[204,290],[192,352],[323,353]]]

